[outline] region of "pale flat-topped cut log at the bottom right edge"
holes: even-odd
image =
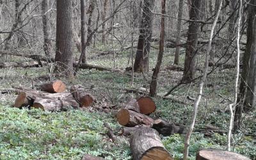
[[[219,149],[202,149],[196,154],[196,160],[250,160],[234,152]]]

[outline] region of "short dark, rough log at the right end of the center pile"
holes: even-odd
[[[155,120],[152,128],[156,129],[156,131],[163,136],[170,136],[175,133],[182,134],[184,131],[184,127],[177,126],[173,123],[168,123],[161,119]]]

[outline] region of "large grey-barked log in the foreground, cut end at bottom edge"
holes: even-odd
[[[130,147],[134,160],[172,159],[163,143],[161,143],[159,133],[150,127],[138,127],[131,136]]]

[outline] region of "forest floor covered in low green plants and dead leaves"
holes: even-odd
[[[184,52],[184,51],[183,51]],[[93,57],[93,54],[91,54]],[[157,50],[153,49],[150,57],[150,70],[156,64]],[[170,88],[179,83],[182,72],[165,70],[173,63],[173,50],[166,49],[163,65],[159,74],[157,93],[164,95]],[[127,65],[129,52],[120,52],[116,56],[116,68],[124,69]],[[13,57],[12,61],[16,60]],[[20,60],[17,58],[17,60]],[[180,63],[184,61],[181,54]],[[113,55],[90,58],[90,64],[113,67]],[[46,75],[47,67],[42,68],[5,68],[0,72],[0,90],[11,89],[12,86],[30,87],[31,79]],[[198,71],[197,75],[201,74]],[[71,110],[60,113],[47,113],[40,109],[13,108],[14,93],[0,96],[0,159],[81,159],[88,153],[106,159],[131,159],[129,138],[116,136],[115,142],[109,140],[104,122],[118,133],[122,127],[115,118],[116,111],[124,106],[131,97],[138,97],[134,93],[127,93],[125,89],[148,88],[152,71],[134,75],[131,85],[131,73],[105,72],[98,70],[79,70],[76,79],[65,79],[67,86],[81,84],[89,93],[95,96],[97,102],[92,108]],[[234,97],[234,68],[216,70],[207,78],[204,96],[196,118],[195,130],[203,129],[211,124],[221,131],[227,131],[230,114],[227,110],[229,100]],[[52,77],[54,79],[54,77]],[[44,83],[35,79],[33,83]],[[186,99],[196,97],[198,82],[179,88],[170,95],[173,99],[186,102],[188,105],[173,102],[161,97],[154,98],[157,109],[150,116],[161,117],[164,120],[181,125],[189,125],[193,111],[193,102]],[[142,96],[142,95],[140,95]],[[109,113],[97,111],[95,106],[115,106]],[[241,132],[233,135],[236,143],[233,151],[251,159],[256,159],[256,139],[244,136],[244,133],[256,134],[256,112],[244,117]],[[185,134],[174,134],[162,137],[164,146],[175,157],[182,159]],[[205,136],[204,132],[194,132],[189,148],[190,159],[200,148],[225,149],[227,134],[213,133]]]

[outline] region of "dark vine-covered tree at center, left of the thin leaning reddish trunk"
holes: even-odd
[[[152,38],[152,10],[154,0],[143,0],[140,36],[134,61],[134,72],[148,72],[150,41]]]

